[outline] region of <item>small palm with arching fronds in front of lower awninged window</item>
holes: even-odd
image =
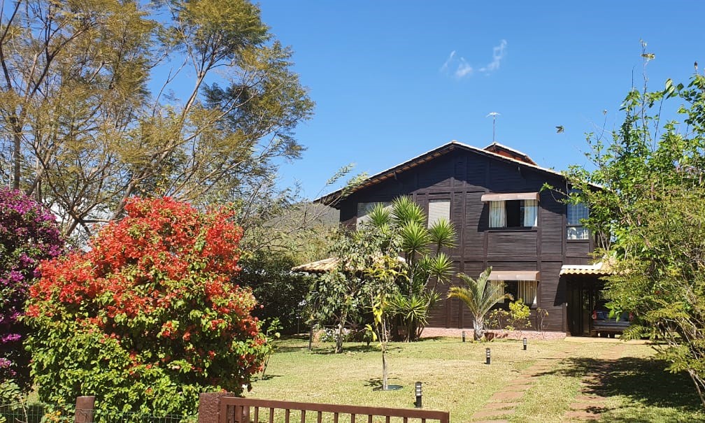
[[[467,309],[472,313],[472,326],[474,329],[474,340],[479,341],[484,336],[484,317],[498,300],[508,298],[513,300],[511,294],[503,294],[503,286],[489,282],[489,274],[492,267],[488,267],[477,279],[473,279],[466,274],[459,273],[458,276],[465,281],[467,288],[461,286],[451,286],[448,291],[448,298],[458,298],[465,302]]]

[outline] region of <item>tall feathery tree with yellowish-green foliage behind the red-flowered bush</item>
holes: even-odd
[[[241,216],[286,197],[277,163],[313,104],[249,1],[18,0],[0,19],[0,173],[67,235],[133,195]]]

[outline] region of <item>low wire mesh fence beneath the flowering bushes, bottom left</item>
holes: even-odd
[[[196,423],[195,415],[68,410],[51,404],[0,404],[0,423]]]

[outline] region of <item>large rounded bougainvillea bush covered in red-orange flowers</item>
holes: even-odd
[[[200,392],[240,394],[268,347],[251,291],[231,283],[242,236],[232,212],[169,198],[126,211],[89,251],[42,264],[30,289],[40,400],[184,414]]]

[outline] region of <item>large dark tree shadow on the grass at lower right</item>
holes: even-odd
[[[664,370],[666,362],[654,358],[623,357],[618,360],[594,360],[572,357],[563,359],[566,366],[545,374],[580,377],[587,374],[586,395],[623,396],[623,407],[677,408],[680,412],[701,415],[701,403],[687,374],[672,374]],[[649,421],[638,415],[629,422]]]

